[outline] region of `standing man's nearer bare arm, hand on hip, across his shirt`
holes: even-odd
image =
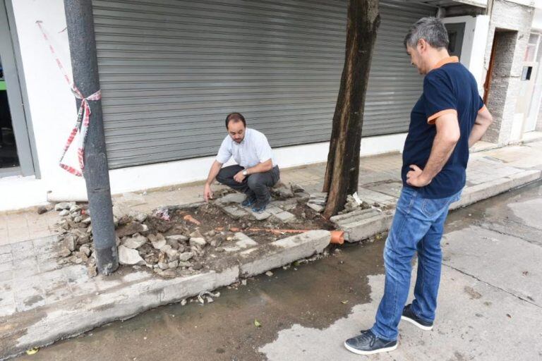
[[[406,173],[406,183],[414,187],[423,187],[433,181],[433,178],[442,170],[452,155],[461,136],[457,114],[449,113],[439,116],[435,120],[435,126],[437,127],[437,135],[433,140],[433,147],[426,167],[422,170],[415,164],[411,164],[412,170]]]

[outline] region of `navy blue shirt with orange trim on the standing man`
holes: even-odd
[[[410,114],[409,134],[403,150],[402,179],[405,187],[421,192],[422,197],[450,197],[462,190],[466,181],[466,163],[469,161],[469,135],[483,100],[478,94],[474,76],[457,56],[441,62],[443,65],[427,73],[423,79],[423,94]],[[447,113],[457,113],[461,137],[442,170],[425,187],[406,184],[409,166],[424,169],[429,159],[437,129],[435,119]]]

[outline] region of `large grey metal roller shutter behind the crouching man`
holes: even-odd
[[[93,0],[109,166],[217,152],[231,111],[272,147],[329,140],[346,1]],[[363,135],[405,131],[422,79],[402,46],[433,8],[381,1]]]

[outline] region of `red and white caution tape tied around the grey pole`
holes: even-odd
[[[90,105],[88,104],[88,102],[102,99],[102,92],[101,90],[98,90],[94,94],[90,94],[88,97],[83,96],[83,93],[81,93],[78,87],[76,87],[76,85],[68,76],[68,73],[66,73],[64,66],[62,66],[59,56],[56,55],[56,51],[54,51],[54,47],[52,46],[49,40],[49,37],[47,37],[47,32],[44,30],[42,21],[37,20],[36,25],[40,27],[43,38],[49,45],[49,50],[51,51],[51,54],[54,57],[54,60],[56,61],[56,65],[59,66],[59,69],[62,75],[64,75],[64,79],[66,79],[66,82],[68,82],[68,85],[71,88],[71,92],[73,92],[73,95],[77,99],[81,99],[81,105],[79,106],[79,110],[77,112],[76,125],[73,126],[70,136],[68,137],[68,140],[66,140],[66,145],[64,145],[64,152],[62,152],[62,157],[60,157],[60,161],[59,161],[59,166],[61,166],[62,169],[65,169],[66,171],[70,172],[74,176],[81,177],[83,176],[83,169],[85,168],[85,162],[84,162],[85,140],[87,137],[87,130],[88,130],[88,125],[90,123],[90,114],[91,114]],[[66,152],[68,152],[68,149],[70,148],[71,143],[73,142],[73,139],[76,137],[77,133],[79,133],[79,137],[80,137],[80,145],[77,149],[79,169],[76,169],[73,166],[68,166],[67,164],[62,163],[62,161],[64,160],[64,157],[66,156]]]

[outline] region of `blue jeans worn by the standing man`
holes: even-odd
[[[402,189],[384,247],[384,295],[371,329],[379,338],[397,339],[397,326],[409,295],[414,252],[418,252],[418,276],[412,311],[428,322],[435,319],[442,263],[440,239],[450,204],[459,197],[461,192],[433,200],[421,197],[413,188]]]

